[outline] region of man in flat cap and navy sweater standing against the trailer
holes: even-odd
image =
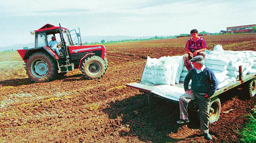
[[[180,119],[178,124],[188,123],[188,103],[195,99],[199,107],[199,116],[201,132],[204,133],[204,138],[212,140],[209,134],[209,104],[210,96],[216,91],[218,82],[214,73],[204,65],[204,58],[202,55],[197,55],[191,60],[194,67],[188,72],[184,80],[184,89],[186,91],[180,97]],[[189,82],[192,80],[191,89],[189,89]]]

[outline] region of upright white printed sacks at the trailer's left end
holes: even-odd
[[[184,67],[182,57],[163,56],[156,59],[148,56],[141,81],[155,85],[175,85],[175,83],[179,83]]]

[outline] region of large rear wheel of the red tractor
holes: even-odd
[[[56,79],[57,66],[54,59],[45,52],[32,54],[26,64],[29,78],[36,82],[48,82]]]

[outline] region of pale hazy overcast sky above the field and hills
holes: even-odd
[[[0,47],[34,42],[46,23],[81,35],[154,36],[256,24],[256,0],[0,0]]]

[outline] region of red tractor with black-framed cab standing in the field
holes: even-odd
[[[29,78],[34,82],[48,82],[57,76],[64,76],[68,71],[78,68],[88,79],[101,78],[108,68],[106,47],[104,45],[82,45],[80,29],[68,30],[64,27],[45,24],[35,35],[35,48],[17,50],[26,63]],[[58,48],[63,53],[58,55],[49,48],[51,37],[60,40]]]

